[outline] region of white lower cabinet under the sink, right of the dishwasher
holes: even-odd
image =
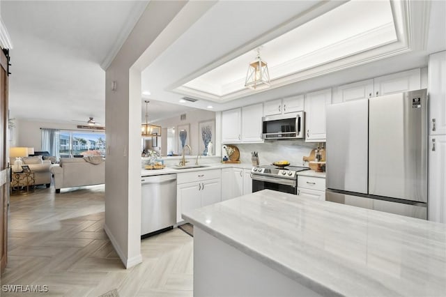
[[[220,169],[177,175],[176,222],[183,221],[181,214],[185,211],[192,211],[220,201],[222,201]]]

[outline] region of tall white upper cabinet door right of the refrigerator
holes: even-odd
[[[429,56],[429,134],[446,135],[446,51]]]

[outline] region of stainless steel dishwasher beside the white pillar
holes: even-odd
[[[141,239],[176,224],[176,174],[141,177]]]

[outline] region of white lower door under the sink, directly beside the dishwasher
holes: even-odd
[[[181,222],[181,213],[201,207],[199,183],[184,183],[176,186],[176,222]]]

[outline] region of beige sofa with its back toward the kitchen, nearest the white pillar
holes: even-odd
[[[61,188],[100,185],[105,183],[105,160],[100,156],[61,158],[59,165],[52,165],[56,193]]]

